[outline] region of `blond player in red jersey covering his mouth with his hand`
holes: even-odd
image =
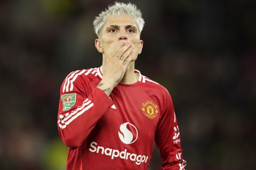
[[[71,72],[60,89],[67,169],[147,169],[154,141],[163,169],[184,169],[169,92],[134,69],[143,47],[140,10],[115,3],[93,24],[102,66]]]

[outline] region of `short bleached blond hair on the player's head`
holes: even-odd
[[[119,16],[122,14],[128,15],[129,18],[133,19],[138,26],[139,32],[141,33],[145,21],[142,19],[142,14],[139,8],[131,3],[125,4],[115,2],[114,5],[108,6],[105,11],[102,11],[99,16],[95,17],[93,26],[96,35],[99,36],[99,32],[102,30],[110,16]]]

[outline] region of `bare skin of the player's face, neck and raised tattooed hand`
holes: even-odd
[[[102,53],[103,78],[98,88],[107,96],[118,83],[133,84],[139,75],[134,62],[141,53],[143,41],[137,24],[127,15],[110,17],[95,39],[95,47]]]

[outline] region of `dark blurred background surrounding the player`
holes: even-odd
[[[255,1],[131,2],[146,21],[135,67],[169,90],[186,169],[255,169]],[[0,169],[66,168],[59,89],[101,65],[92,22],[110,3],[0,2]],[[160,164],[154,150],[149,169]]]

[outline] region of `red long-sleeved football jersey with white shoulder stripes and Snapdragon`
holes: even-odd
[[[139,74],[108,97],[97,88],[101,67],[68,74],[60,89],[58,130],[68,170],[147,169],[154,141],[162,169],[185,169],[169,92]]]

